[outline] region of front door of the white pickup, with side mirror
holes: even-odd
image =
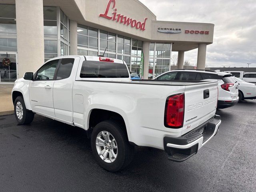
[[[35,80],[30,82],[30,103],[32,110],[35,112],[55,116],[52,96],[55,82],[54,76],[59,61],[57,59],[44,64],[36,72]]]

